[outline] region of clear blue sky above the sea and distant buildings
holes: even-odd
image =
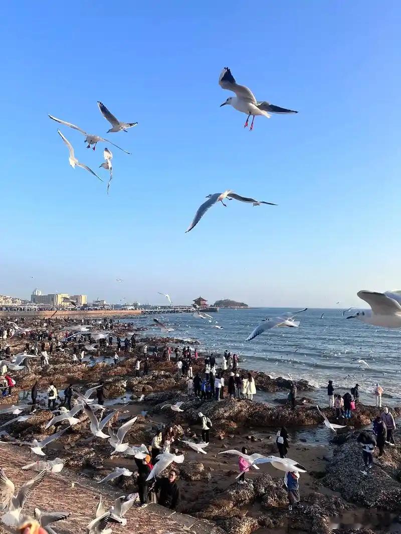
[[[254,8],[3,6],[0,293],[331,307],[399,289],[401,5]],[[219,108],[224,66],[299,113],[244,130],[245,115]],[[106,135],[97,100],[138,126]],[[109,197],[68,165],[48,113],[132,152],[113,150]],[[61,130],[96,170],[102,145]],[[205,195],[225,189],[279,206],[214,206],[185,234]]]

